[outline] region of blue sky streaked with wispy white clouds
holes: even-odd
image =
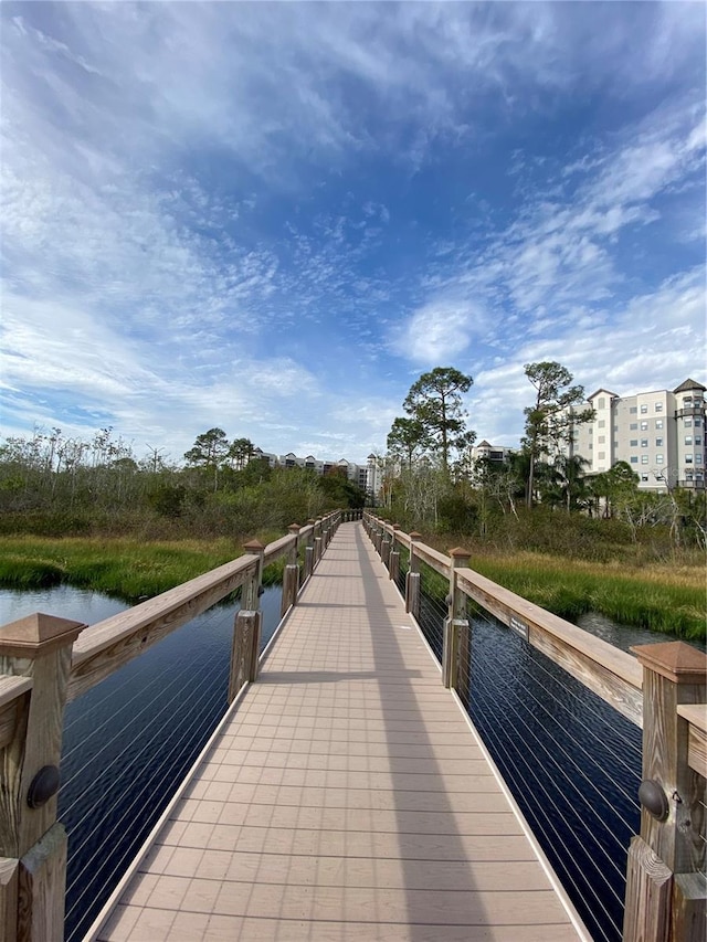
[[[707,381],[701,2],[3,2],[0,436],[383,452]]]

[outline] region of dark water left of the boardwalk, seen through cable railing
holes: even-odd
[[[279,622],[279,595],[275,588],[261,599],[263,645]],[[0,591],[0,624],[33,612],[95,624],[126,607],[68,586]],[[238,607],[210,608],[66,707],[67,942],[83,938],[225,712]]]

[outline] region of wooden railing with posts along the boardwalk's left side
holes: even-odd
[[[66,702],[179,626],[241,590],[229,701],[257,673],[263,569],[284,559],[284,614],[296,604],[342,519],[336,511],[91,627],[34,614],[0,628],[0,940],[64,935],[66,833],[56,821]]]

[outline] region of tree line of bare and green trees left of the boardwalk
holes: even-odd
[[[326,475],[271,467],[249,438],[219,427],[197,436],[181,464],[162,448],[138,458],[110,427],[91,438],[61,428],[0,444],[3,532],[252,533],[304,522],[328,509],[362,507],[342,468]]]

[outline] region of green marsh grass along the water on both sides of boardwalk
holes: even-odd
[[[258,539],[267,543],[278,536],[264,532]],[[0,537],[0,585],[40,589],[66,583],[136,602],[238,558],[241,546],[240,540],[225,538],[145,542],[129,538]],[[266,568],[265,585],[282,582],[284,564],[282,559]],[[471,565],[563,618],[573,621],[591,611],[619,624],[690,641],[707,638],[704,565],[599,563],[530,551],[474,552]],[[444,597],[445,580],[439,576],[434,584]]]

